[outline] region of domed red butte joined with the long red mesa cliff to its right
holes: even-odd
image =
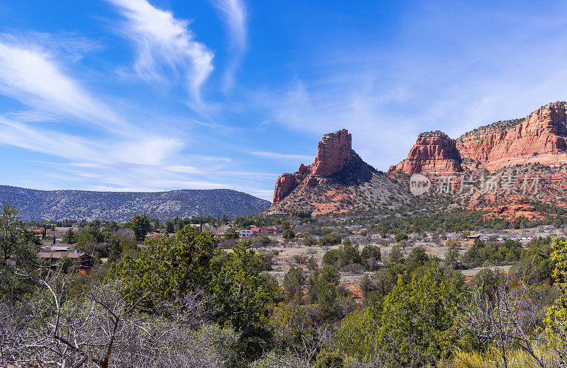
[[[525,119],[487,125],[456,140],[442,132],[420,134],[408,158],[388,172],[447,175],[462,171],[461,159],[488,171],[535,162],[555,165],[567,161],[566,150],[567,103],[556,102]]]

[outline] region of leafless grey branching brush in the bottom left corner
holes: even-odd
[[[192,332],[202,325],[206,296],[189,294],[176,313],[140,314],[120,282],[70,297],[73,275],[50,272],[21,306],[0,303],[0,367],[216,368],[223,353]]]

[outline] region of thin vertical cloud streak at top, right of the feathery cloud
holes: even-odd
[[[228,28],[228,38],[232,59],[228,62],[224,75],[223,88],[232,88],[235,72],[240,67],[242,55],[247,44],[247,10],[242,0],[211,0],[218,9]]]

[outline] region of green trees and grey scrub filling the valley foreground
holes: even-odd
[[[274,254],[257,251],[257,240],[236,240],[224,250],[222,238],[185,222],[198,219],[159,224],[139,216],[67,231],[66,238],[97,256],[93,272],[83,275],[71,260],[50,265],[35,258],[37,235],[5,206],[0,367],[567,364],[565,238],[525,247],[476,241],[460,257],[449,248],[441,259],[420,247],[404,256],[408,234],[398,233],[398,243],[383,253],[352,243],[347,228],[320,228],[310,232],[324,234],[311,241],[329,248],[322,263],[298,259],[300,266],[278,282],[268,272]],[[137,231],[156,225],[172,231],[136,246]],[[298,242],[316,239],[303,233]],[[513,266],[507,273],[485,269],[466,282],[457,263]],[[354,267],[370,272],[358,300],[339,283],[339,272]]]

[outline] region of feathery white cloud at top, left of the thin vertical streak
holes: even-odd
[[[195,40],[189,21],[174,18],[171,11],[152,6],[147,0],[108,0],[128,20],[118,28],[137,47],[134,69],[147,81],[181,76],[186,87],[201,102],[201,86],[213,71],[214,54]]]

